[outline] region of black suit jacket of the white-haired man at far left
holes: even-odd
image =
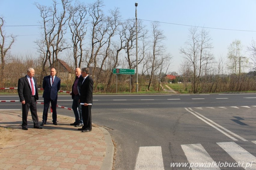
[[[37,86],[37,80],[35,77],[33,77],[35,82],[35,99],[38,100],[38,86]],[[31,103],[31,87],[29,85],[29,81],[27,79],[27,76],[22,77],[18,81],[18,94],[20,97],[20,102],[24,101],[26,103]]]

